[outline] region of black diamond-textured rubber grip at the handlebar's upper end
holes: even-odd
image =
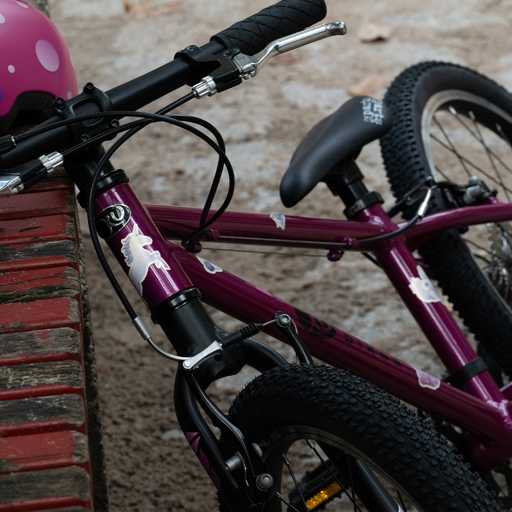
[[[210,41],[239,48],[246,55],[263,50],[269,42],[294,34],[324,19],[324,0],[282,0],[215,34]]]

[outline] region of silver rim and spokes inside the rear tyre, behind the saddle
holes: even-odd
[[[422,145],[436,181],[464,185],[477,176],[490,189],[497,189],[497,198],[503,202],[512,201],[509,134],[512,116],[470,92],[438,92],[423,109]],[[512,306],[512,224],[474,226],[464,240],[478,266]]]

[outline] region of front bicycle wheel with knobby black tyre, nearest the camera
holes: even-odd
[[[266,512],[381,512],[380,501],[368,503],[368,488],[354,484],[360,462],[382,477],[401,507],[394,510],[501,510],[412,411],[345,371],[275,368],[249,383],[230,418],[248,442],[261,447],[278,488]]]

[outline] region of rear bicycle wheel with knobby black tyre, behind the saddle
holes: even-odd
[[[381,150],[397,198],[427,177],[467,186],[476,176],[500,201],[512,199],[512,96],[498,84],[460,66],[424,62],[394,80],[385,102],[394,127]],[[429,211],[449,207],[437,190]],[[512,224],[446,231],[419,252],[466,327],[512,375]]]

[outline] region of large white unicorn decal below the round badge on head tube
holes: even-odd
[[[146,279],[150,265],[170,270],[169,265],[162,259],[159,251],[144,249],[145,245],[152,243],[153,240],[150,237],[140,233],[137,224],[134,225],[132,232],[121,240],[121,252],[124,254],[126,265],[130,267],[128,277],[139,295],[142,295],[142,281]]]

